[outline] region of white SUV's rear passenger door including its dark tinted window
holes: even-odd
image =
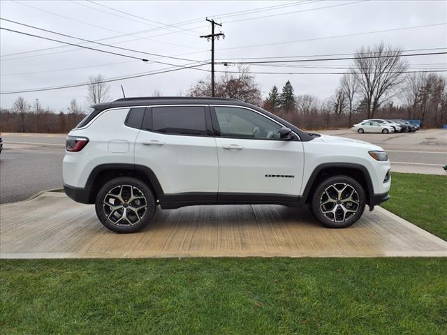
[[[135,164],[154,172],[165,195],[217,197],[219,164],[209,107],[148,107],[135,141]]]

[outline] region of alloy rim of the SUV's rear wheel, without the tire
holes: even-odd
[[[108,221],[114,225],[135,225],[147,212],[147,200],[139,188],[118,185],[105,195],[103,211]]]

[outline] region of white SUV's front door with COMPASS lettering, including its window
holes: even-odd
[[[219,200],[298,196],[304,164],[298,135],[281,140],[281,124],[248,107],[212,106],[212,121],[218,134]]]

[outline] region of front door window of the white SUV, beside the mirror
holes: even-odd
[[[257,140],[279,140],[281,125],[252,110],[214,107],[221,136]]]

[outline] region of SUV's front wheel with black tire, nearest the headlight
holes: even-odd
[[[326,207],[330,206],[332,202],[328,202],[328,204],[321,204],[321,202],[325,202],[329,199],[328,193],[333,192],[331,186],[337,186],[338,188],[342,189],[344,185],[346,185],[346,189],[344,192],[351,193],[352,190],[355,190],[356,192],[356,193],[352,192],[353,193],[351,195],[352,197],[351,200],[353,199],[352,202],[349,201],[349,198],[346,198],[346,193],[342,193],[342,200],[339,200],[340,203],[335,202],[334,207],[332,208]],[[328,190],[328,188],[330,189]],[[326,191],[328,193],[325,193]],[[357,205],[355,204],[356,202],[358,202]],[[343,208],[340,206],[340,204],[346,207]],[[314,214],[315,218],[327,228],[347,228],[350,225],[353,225],[362,216],[363,211],[365,211],[365,204],[366,204],[365,190],[358,183],[358,181],[356,181],[356,179],[347,176],[329,177],[328,179],[321,181],[321,183],[316,187],[311,198],[312,214]],[[323,214],[324,209],[326,211],[335,209],[335,213]],[[346,211],[348,210],[350,211],[345,212],[345,209]],[[355,210],[355,213],[352,212],[353,210]],[[342,221],[338,220],[339,218],[342,218]]]

